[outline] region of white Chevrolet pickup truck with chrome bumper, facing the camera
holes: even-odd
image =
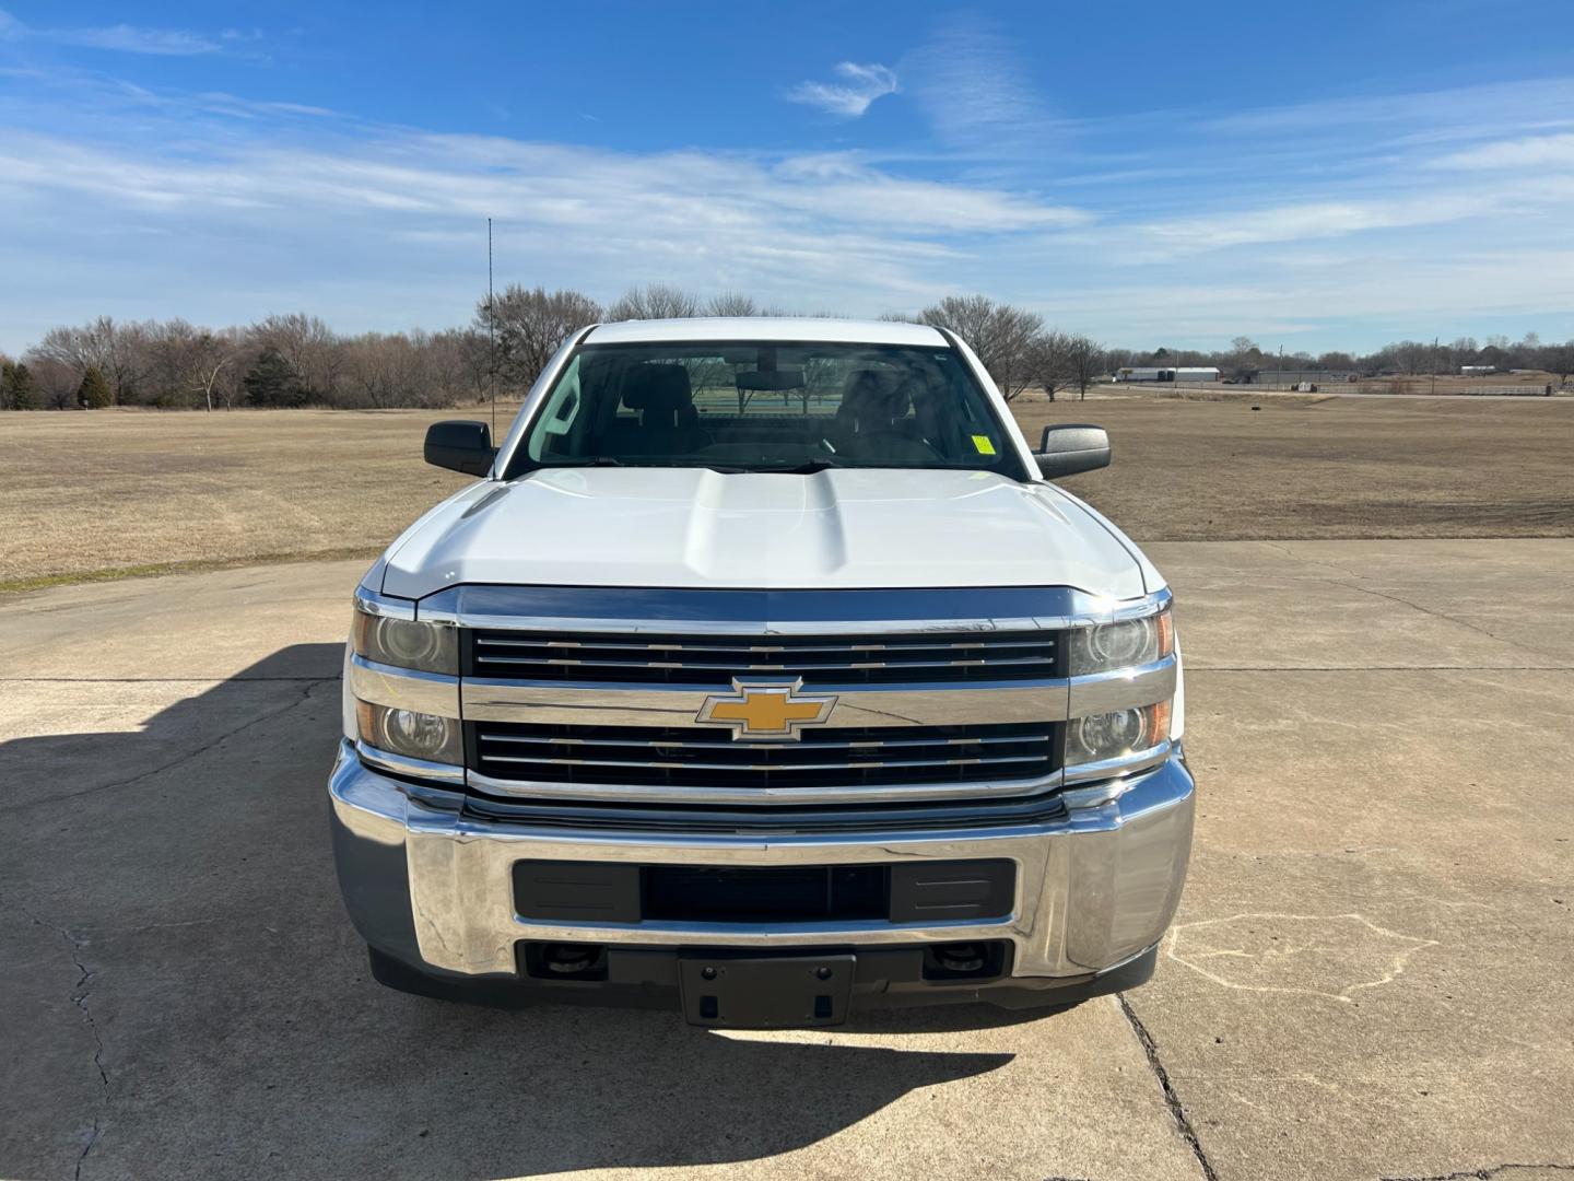
[[[1192,846],[1165,579],[952,334],[597,324],[356,592],[329,783],[384,984],[834,1025],[1146,981]]]

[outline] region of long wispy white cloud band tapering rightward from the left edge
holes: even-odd
[[[127,153],[55,137],[0,132],[11,186],[120,194],[146,209],[269,208],[299,216],[389,211],[438,217],[496,213],[519,222],[603,233],[760,239],[815,231],[889,238],[1009,235],[1081,225],[1083,209],[998,189],[896,176],[825,157],[776,165],[700,153],[631,154],[482,135],[390,132],[359,145],[197,145]],[[619,227],[623,227],[622,230]]]

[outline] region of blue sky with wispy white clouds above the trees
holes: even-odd
[[[1127,346],[1574,337],[1574,3],[0,0],[0,348],[499,282]]]

